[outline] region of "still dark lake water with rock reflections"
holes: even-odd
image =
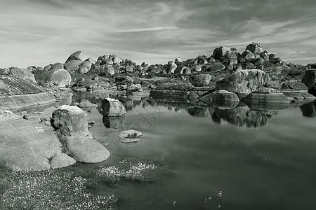
[[[81,101],[101,104],[93,94],[74,94],[72,102]],[[110,128],[98,109],[88,112],[96,121],[90,132],[111,157],[67,170],[88,177],[100,165],[145,156],[164,158],[172,174],[89,189],[117,195],[117,209],[316,209],[316,102],[279,111],[122,102],[124,121]],[[143,132],[142,141],[121,144],[123,130]]]

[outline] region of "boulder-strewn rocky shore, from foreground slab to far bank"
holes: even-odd
[[[98,94],[104,99],[98,109],[102,109],[106,119],[124,116],[126,112],[121,102],[111,99],[114,95],[134,99],[150,96],[157,102],[193,100],[195,104],[226,108],[244,102],[256,109],[273,109],[315,100],[315,68],[316,64],[286,64],[275,53],[263,50],[261,43],[250,43],[242,53],[236,48],[218,47],[211,56],[199,55],[185,61],[177,57],[167,64],[138,65],[117,55],[103,55],[94,60],[77,51],[65,63],[56,62],[44,68],[0,69],[0,126],[1,130],[8,131],[1,134],[0,149],[14,151],[15,148],[16,153],[25,150],[21,155],[29,160],[24,158],[23,162],[22,156],[14,160],[14,155],[0,158],[16,170],[54,169],[74,162],[101,162],[109,158],[110,152],[88,132],[93,122],[82,111],[97,105],[72,104],[71,91]],[[58,109],[52,116],[36,116],[32,123],[23,119],[27,113],[18,113],[23,107],[55,102],[72,106],[55,105]],[[9,129],[8,125],[18,127],[18,131]],[[35,127],[42,127],[43,132],[34,130]],[[7,145],[12,134],[18,144],[22,133],[31,137],[22,144],[25,148]],[[37,139],[46,137],[37,134],[50,136],[47,144],[55,142],[55,146],[41,145],[46,143]],[[29,146],[31,143],[34,146]],[[47,151],[34,151],[37,144]]]

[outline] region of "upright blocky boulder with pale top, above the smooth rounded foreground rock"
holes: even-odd
[[[77,106],[62,105],[52,114],[53,125],[63,135],[88,136],[88,115]]]

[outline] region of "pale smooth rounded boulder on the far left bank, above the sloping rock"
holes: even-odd
[[[46,83],[53,83],[58,86],[70,85],[72,81],[72,76],[65,69],[55,69],[53,71],[48,71],[45,76]]]

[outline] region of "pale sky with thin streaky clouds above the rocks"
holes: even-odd
[[[243,52],[316,62],[315,0],[0,0],[0,68],[64,63],[73,52],[137,64]]]

